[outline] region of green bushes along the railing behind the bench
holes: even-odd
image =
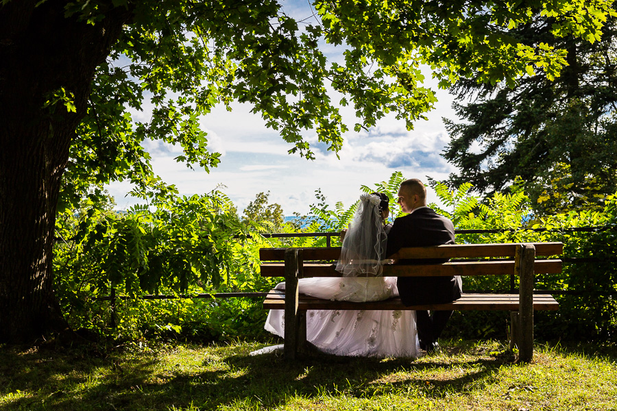
[[[361,191],[385,192],[391,219],[401,173],[389,181],[362,186]],[[536,288],[557,290],[558,312],[537,312],[535,335],[541,339],[617,340],[617,197],[605,199],[603,210],[571,211],[537,216],[522,188],[497,193],[481,201],[470,184],[451,190],[431,182],[437,203],[430,206],[455,223],[457,242],[564,242],[565,258],[590,259],[566,263],[560,274],[536,275]],[[352,221],[357,203],[349,207],[316,191],[311,213],[281,225],[281,232],[339,232]],[[152,209],[152,210],[151,210]],[[154,211],[153,211],[154,210]],[[175,298],[143,300],[149,293],[197,295],[215,292],[263,292],[277,279],[258,272],[260,247],[324,247],[325,237],[287,239],[261,236],[267,221],[240,221],[232,202],[219,191],[182,197],[128,212],[110,204],[84,201],[78,212],[58,217],[54,267],[62,309],[75,328],[95,329],[114,338],[184,338],[231,340],[262,338],[266,312],[261,299]],[[598,227],[591,232],[577,227]],[[332,237],[332,246],[339,245]],[[518,284],[516,284],[518,286]],[[465,277],[464,290],[507,292],[509,277]],[[115,292],[115,327],[110,301]],[[455,312],[447,336],[505,338],[509,316],[503,312]]]

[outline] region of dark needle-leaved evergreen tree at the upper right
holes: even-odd
[[[463,121],[446,121],[452,140],[443,154],[460,169],[450,175],[452,186],[471,182],[490,195],[521,177],[544,211],[548,203],[555,208],[546,201],[554,195],[561,197],[557,208],[568,208],[570,201],[597,203],[617,189],[617,21],[609,17],[593,43],[556,38],[552,25],[538,15],[511,34],[526,45],[566,49],[568,66],[559,77],[529,70],[513,88],[477,77],[455,84],[454,107]]]

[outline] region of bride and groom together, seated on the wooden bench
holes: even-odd
[[[419,179],[401,183],[402,212],[386,224],[389,200],[383,193],[362,195],[353,223],[343,233],[337,263],[342,277],[302,278],[299,292],[336,301],[381,301],[400,296],[405,306],[450,303],[461,297],[460,277],[383,277],[383,260],[404,247],[455,243],[452,221],[426,206],[426,187]],[[401,260],[413,264],[412,261]],[[276,286],[285,289],[285,283]],[[418,357],[439,349],[452,311],[309,310],[306,340],[319,351],[339,356]],[[267,331],[284,336],[282,310],[270,310]]]

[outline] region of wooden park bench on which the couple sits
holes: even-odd
[[[438,275],[510,275],[519,278],[518,293],[463,293],[452,303],[403,306],[400,298],[354,303],[330,301],[298,294],[298,279],[303,277],[340,277],[335,270],[340,247],[263,248],[259,250],[261,275],[285,277],[285,290],[271,290],[263,306],[285,310],[285,348],[287,360],[293,360],[306,342],[306,310],[507,310],[511,312],[511,347],[516,343],[519,361],[533,358],[533,310],[557,310],[552,295],[533,294],[534,273],[561,273],[561,260],[537,259],[559,256],[561,242],[439,245],[400,249],[392,258],[449,259],[438,264],[385,264],[387,277]],[[468,260],[465,260],[468,259]],[[474,260],[470,260],[474,259]],[[334,263],[333,263],[334,262]],[[463,284],[464,284],[463,279]]]

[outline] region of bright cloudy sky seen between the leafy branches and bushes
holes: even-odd
[[[295,16],[311,13],[307,2],[298,0],[287,2],[285,10]],[[328,58],[334,61],[341,58],[342,51],[326,49]],[[259,192],[268,191],[269,201],[279,203],[287,216],[293,212],[309,212],[311,204],[317,203],[317,189],[332,206],[337,201],[350,206],[359,198],[361,185],[387,181],[395,171],[423,182],[426,176],[442,180],[456,171],[439,155],[449,140],[442,118],[456,119],[451,108],[453,97],[446,90],[437,90],[430,71],[424,74],[424,85],[433,88],[438,99],[434,110],[426,114],[428,121],[416,121],[414,129],[408,131],[403,121],[387,116],[368,131],[354,132],[356,120],[352,109],[341,108],[350,131],[343,134],[340,159],[319,145],[313,149],[315,160],[288,154],[292,145],[282,140],[276,130],[268,129],[261,116],[250,113],[251,106],[243,103],[234,103],[231,112],[217,107],[200,119],[208,133],[208,149],[221,153],[221,163],[210,173],[198,166],[193,171],[186,164],[176,162],[174,158],[180,155],[180,147],[147,141],[145,148],[152,155],[154,172],[168,184],[175,184],[180,195],[204,194],[219,187],[232,199],[240,214]],[[134,113],[136,117],[148,115]],[[306,134],[306,138],[309,142],[317,141],[314,132]],[[128,183],[113,183],[106,188],[119,209],[140,202],[126,196],[130,190]],[[432,190],[428,192],[428,201],[435,201]]]

